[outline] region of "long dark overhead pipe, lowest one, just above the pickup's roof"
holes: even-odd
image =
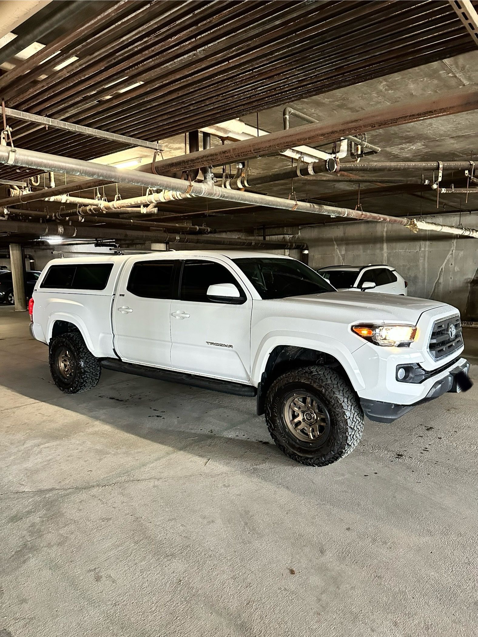
[[[196,236],[194,234],[185,236],[181,234],[169,234],[152,231],[144,233],[137,230],[126,230],[122,228],[105,228],[90,226],[87,224],[62,225],[55,222],[39,224],[29,221],[0,220],[0,231],[17,234],[36,234],[41,239],[45,236],[61,236],[64,238],[77,239],[122,239],[129,241],[159,241],[161,243],[199,243],[202,245],[214,245],[217,247],[235,246],[241,248],[265,248],[267,249],[307,249],[307,243],[299,241],[257,241],[255,239],[231,239],[223,237],[212,237],[209,235]]]

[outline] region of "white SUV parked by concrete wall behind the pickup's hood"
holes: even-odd
[[[337,290],[359,290],[407,296],[407,285],[391,266],[327,266],[317,270]]]

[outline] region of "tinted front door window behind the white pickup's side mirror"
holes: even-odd
[[[182,301],[212,303],[207,297],[208,287],[216,283],[234,283],[245,297],[235,276],[227,268],[213,261],[185,261],[181,278]]]

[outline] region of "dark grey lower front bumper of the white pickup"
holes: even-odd
[[[456,376],[460,373],[465,373],[468,376],[468,370],[470,364],[465,359],[460,359],[458,364],[450,369],[447,375],[442,376],[436,380],[431,389],[424,398],[412,404],[395,404],[384,403],[382,401],[370,400],[368,398],[361,398],[360,404],[369,420],[374,422],[393,422],[394,420],[401,418],[405,413],[410,412],[418,404],[428,403],[428,401],[442,396],[446,392],[459,392],[460,384],[457,382]]]

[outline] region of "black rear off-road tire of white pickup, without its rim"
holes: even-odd
[[[58,358],[62,350],[68,350],[73,361],[73,373],[68,379],[59,371]],[[50,341],[49,361],[53,382],[64,394],[79,394],[98,385],[101,366],[79,333],[68,332],[53,338]]]

